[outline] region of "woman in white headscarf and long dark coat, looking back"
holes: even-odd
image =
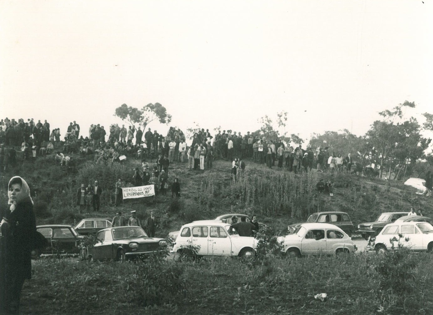
[[[24,280],[31,278],[36,219],[24,179],[10,179],[8,196],[10,206],[0,209],[0,314],[18,314]]]

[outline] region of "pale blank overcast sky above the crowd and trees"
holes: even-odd
[[[159,102],[172,126],[364,134],[405,100],[433,112],[433,3],[0,2],[0,117],[107,129],[123,103]],[[165,133],[168,127],[149,127]],[[87,131],[84,132],[84,136]]]

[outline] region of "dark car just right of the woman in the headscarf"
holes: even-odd
[[[79,235],[71,225],[38,225],[36,231],[42,234],[48,241],[48,246],[43,250],[38,250],[36,256],[40,254],[78,253],[78,245],[84,238],[84,236]]]

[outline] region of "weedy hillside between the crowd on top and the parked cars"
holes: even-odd
[[[122,164],[96,165],[92,157],[75,157],[75,172],[54,165],[53,157],[24,162],[14,170],[4,172],[1,178],[0,201],[6,204],[7,182],[13,175],[20,175],[36,193],[35,212],[37,224],[74,224],[85,217],[112,218],[119,209],[126,215],[136,210],[140,219],[155,210],[161,222],[157,236],[165,237],[169,231],[178,230],[181,224],[197,219],[214,218],[229,212],[255,213],[262,221],[284,230],[288,224],[305,220],[315,211],[335,210],[349,213],[355,225],[372,221],[383,211],[409,211],[410,207],[423,208],[424,214],[433,215],[433,198],[416,195],[415,190],[401,182],[385,182],[353,174],[312,172],[299,175],[284,169],[267,168],[248,159],[246,170],[235,183],[231,179],[230,163],[216,160],[213,168],[204,172],[189,170],[187,163],[174,162],[169,169],[168,182],[177,177],[181,183],[181,198],[173,200],[170,188],[167,195],[156,198],[128,199],[114,207],[114,183],[121,177],[126,185],[132,185],[133,169],[140,161],[129,158]],[[152,163],[150,163],[153,166]],[[316,183],[320,178],[332,179],[333,197],[319,194]],[[86,186],[98,179],[103,188],[101,211],[78,213],[76,191],[81,183]]]

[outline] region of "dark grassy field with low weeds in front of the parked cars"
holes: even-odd
[[[415,255],[419,266],[400,303],[379,292],[374,255],[268,256],[247,263],[207,258],[198,263],[86,262],[77,258],[33,262],[22,313],[42,314],[433,314],[433,260]],[[155,273],[155,277],[147,274]],[[314,299],[317,293],[328,299]],[[422,293],[420,295],[420,293]],[[397,306],[399,305],[399,306]]]

